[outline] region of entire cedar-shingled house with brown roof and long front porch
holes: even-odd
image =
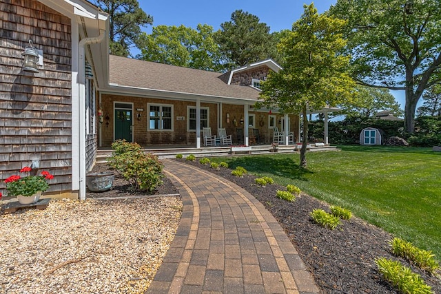
[[[211,127],[251,145],[278,127],[300,140],[297,115],[254,107],[274,61],[220,74],[112,56],[108,18],[85,0],[0,0],[3,195],[3,180],[31,166],[55,176],[45,197],[85,199],[97,149],[120,138],[201,148]]]

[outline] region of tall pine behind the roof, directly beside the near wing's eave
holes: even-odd
[[[142,48],[141,27],[151,25],[153,17],[146,14],[137,0],[92,0],[109,14],[110,54],[129,56],[130,48]]]

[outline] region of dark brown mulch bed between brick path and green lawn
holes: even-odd
[[[255,176],[238,178],[232,176],[231,169],[216,170],[199,162],[185,162],[236,183],[264,204],[285,229],[323,293],[398,293],[377,271],[374,260],[381,257],[399,260],[411,267],[432,287],[433,293],[441,293],[439,278],[391,254],[389,241],[393,236],[382,229],[354,217],[342,220],[342,225],[333,231],[325,229],[309,216],[316,208],[329,212],[325,202],[305,193],[295,202],[287,202],[276,197],[277,190],[286,190],[283,186],[260,187],[254,182]]]

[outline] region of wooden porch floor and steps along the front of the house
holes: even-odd
[[[147,153],[156,154],[160,159],[175,158],[176,154],[182,154],[185,158],[189,154],[194,154],[196,158],[215,157],[215,156],[244,156],[244,155],[258,155],[258,154],[280,154],[280,153],[294,153],[300,152],[297,145],[279,145],[277,152],[270,152],[271,145],[252,145],[249,153],[230,154],[229,146],[216,147],[189,147],[189,145],[155,145],[143,147],[143,151]],[[340,151],[336,146],[325,145],[316,147],[314,143],[308,144],[308,151]],[[107,158],[112,155],[110,147],[99,147],[96,154],[96,163],[105,163]]]

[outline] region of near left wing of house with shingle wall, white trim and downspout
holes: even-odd
[[[84,198],[98,147],[96,88],[108,76],[107,18],[85,0],[0,0],[3,195],[3,180],[32,166],[55,176],[45,196]]]

